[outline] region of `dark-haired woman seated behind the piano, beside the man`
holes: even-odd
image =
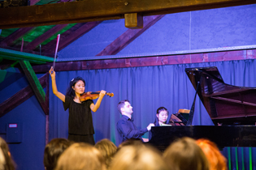
[[[157,113],[155,115],[154,126],[167,125],[167,118],[169,112],[167,108],[160,107],[157,109]],[[149,140],[152,138],[151,131],[149,132]]]

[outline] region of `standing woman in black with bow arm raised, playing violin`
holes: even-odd
[[[96,112],[98,110],[106,91],[102,90],[99,92],[96,104],[93,104],[93,100],[90,99],[82,100],[80,95],[85,92],[85,80],[76,77],[69,83],[66,95],[63,95],[57,89],[54,69],[50,68],[49,73],[54,95],[63,101],[65,110],[69,108],[68,139],[74,142],[88,142],[94,145],[93,117],[91,111]]]

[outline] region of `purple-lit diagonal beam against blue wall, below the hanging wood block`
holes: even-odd
[[[145,16],[144,17],[144,27],[141,29],[128,29],[121,36],[116,38],[110,45],[107,45],[96,56],[106,56],[106,55],[115,55],[124,49],[128,44],[140,36],[145,30],[150,28],[154,23],[158,22],[159,19],[162,19],[164,15],[154,15],[154,16]]]

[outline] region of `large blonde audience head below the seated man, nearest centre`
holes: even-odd
[[[110,170],[167,170],[158,151],[144,145],[130,145],[120,148],[116,153]]]

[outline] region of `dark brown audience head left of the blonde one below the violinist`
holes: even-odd
[[[46,170],[53,170],[56,167],[59,156],[72,144],[66,138],[54,138],[45,148],[44,165]]]

